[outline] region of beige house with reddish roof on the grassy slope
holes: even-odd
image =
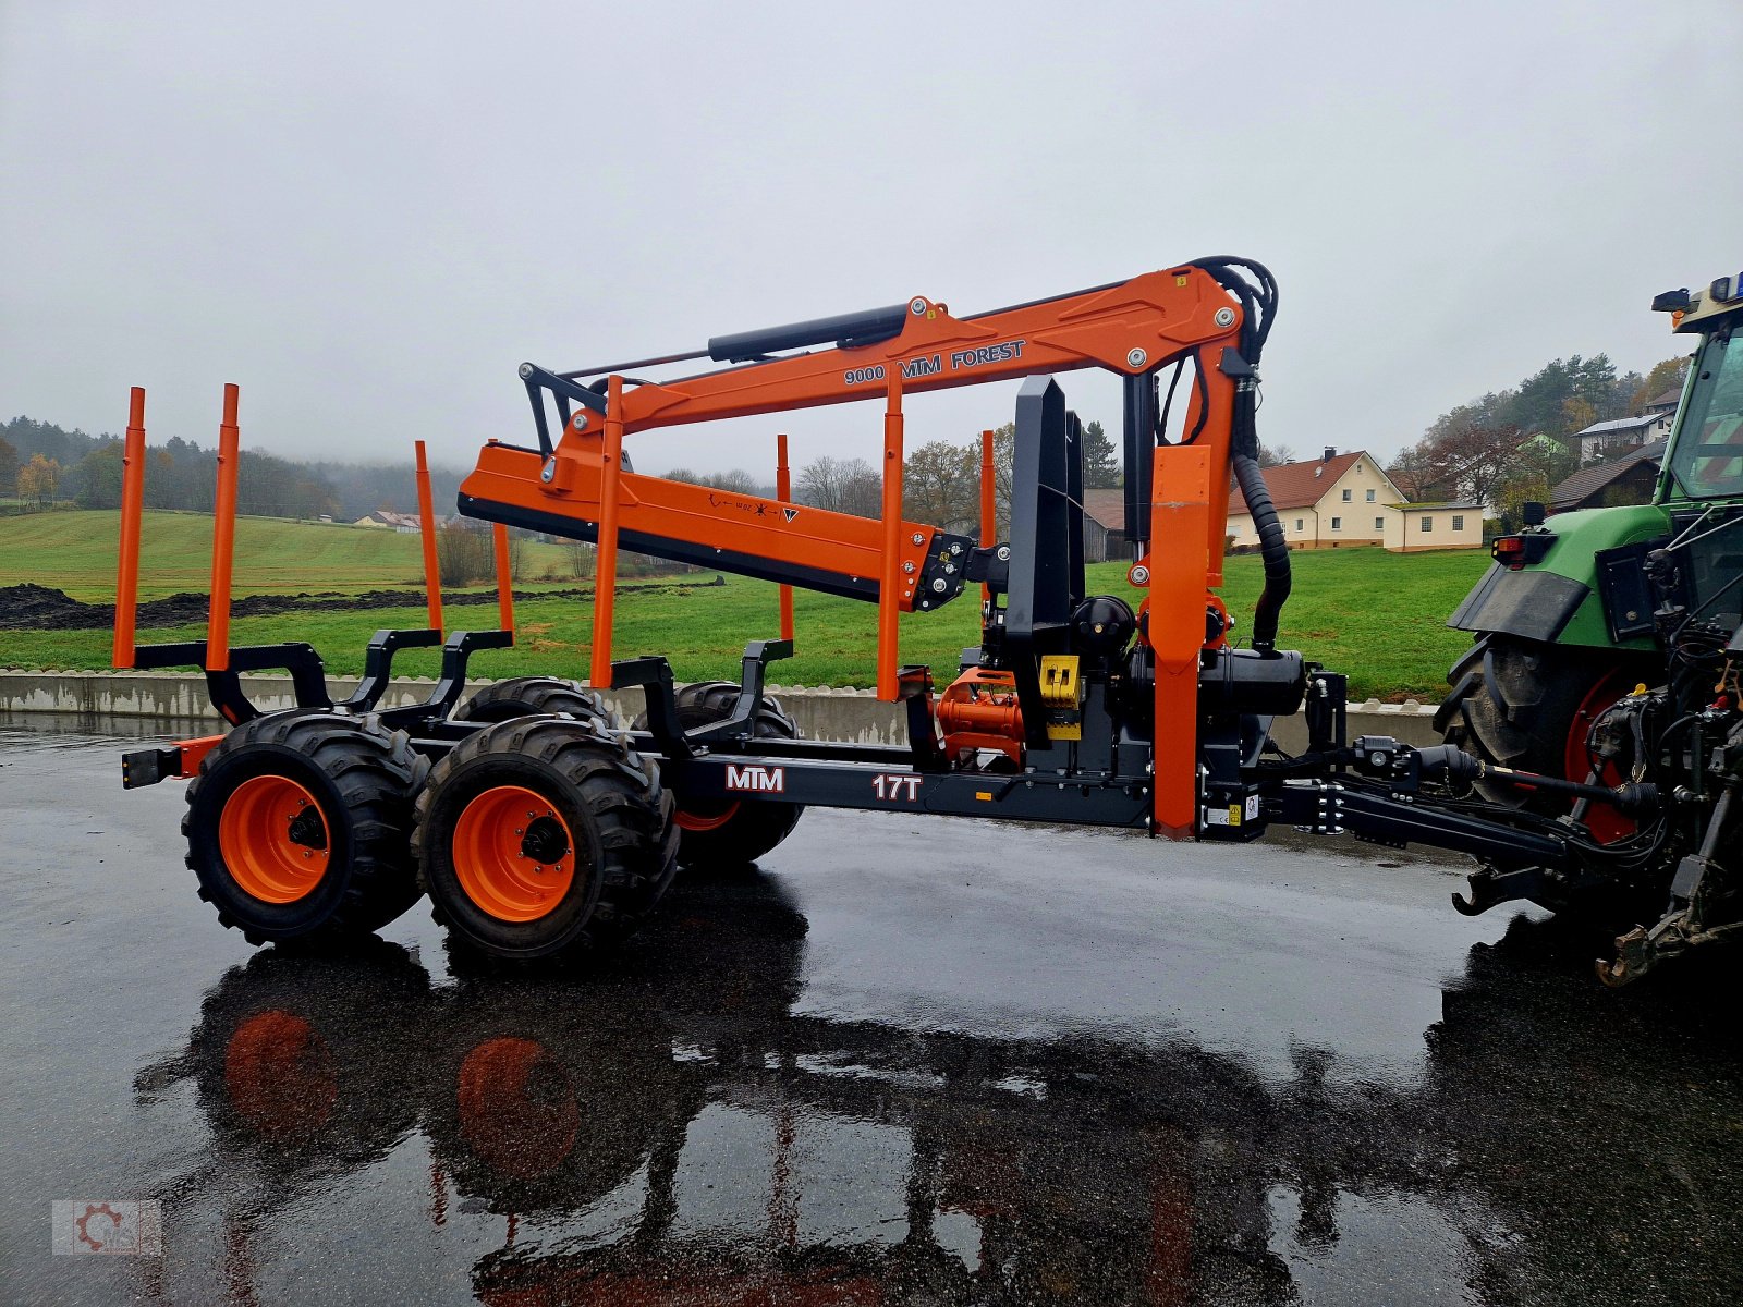
[[[1367,450],[1339,453],[1328,448],[1312,462],[1267,467],[1265,488],[1290,549],[1387,544],[1387,525],[1398,516],[1394,505],[1405,498]],[[1482,540],[1482,514],[1475,523]],[[1229,493],[1229,535],[1236,549],[1258,544],[1253,514],[1239,490]]]

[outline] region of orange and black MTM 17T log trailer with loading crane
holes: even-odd
[[[535,444],[490,441],[460,512],[493,525],[500,629],[444,636],[429,477],[418,450],[429,627],[380,631],[363,683],[335,701],[307,645],[228,645],[235,389],[220,427],[213,603],[204,641],[134,645],[143,392],[134,392],[115,666],[204,669],[221,735],[139,749],[124,784],[187,777],[188,866],[225,925],[253,943],[331,943],[429,894],[465,948],[504,960],[570,955],[631,929],[680,863],[744,863],[805,807],[896,809],[1255,840],[1269,823],[1473,856],[1462,911],[1509,899],[1565,910],[1654,899],[1609,983],[1738,929],[1734,798],[1743,781],[1743,633],[1691,599],[1685,540],[1642,556],[1679,683],[1640,687],[1591,727],[1584,779],[1522,772],[1454,744],[1347,739],[1346,678],[1278,648],[1290,554],[1258,471],[1258,364],[1278,288],[1250,260],[1206,258],[983,314],[915,296],[861,314],[716,336],[706,350],[572,371],[523,364]],[[673,364],[723,364],[648,378]],[[1089,594],[1082,429],[1058,373],[1122,378],[1129,596]],[[1009,538],[903,519],[903,399],[1025,378],[1016,401]],[[884,403],[882,518],[729,495],[643,476],[627,436],[863,399]],[[1262,542],[1264,593],[1245,645],[1222,603],[1229,483]],[[479,648],[512,643],[505,528],[596,542],[589,685],[498,681],[462,701]],[[908,741],[800,739],[765,695],[790,640],[753,641],[737,683],[676,687],[664,657],[612,657],[617,551],[704,563],[877,603],[878,695]],[[981,593],[981,643],[938,692],[898,662],[898,617]],[[424,702],[380,708],[394,654],[443,647]],[[1679,662],[1680,660],[1680,662]],[[258,711],[237,673],[289,671],[296,708]],[[640,688],[627,727],[598,688]],[[1271,737],[1302,713],[1304,753]],[[1558,816],[1473,795],[1551,795]],[[1605,843],[1593,805],[1637,823]],[[1668,896],[1668,910],[1665,910]]]

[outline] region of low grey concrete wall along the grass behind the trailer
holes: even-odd
[[[289,676],[242,676],[249,697],[263,709],[291,708]],[[357,681],[335,678],[333,697],[350,694]],[[383,708],[425,699],[434,681],[396,680],[382,697]],[[476,690],[488,681],[471,681]],[[878,702],[870,690],[831,690],[816,687],[770,687],[781,706],[793,714],[810,739],[838,739],[856,744],[905,744],[906,727],[899,704]],[[641,711],[641,692],[607,692],[607,702],[626,720]],[[54,713],[82,721],[103,718],[148,718],[160,721],[220,721],[206,702],[206,681],[199,673],[115,673],[115,671],[19,671],[0,669],[0,713]],[[1433,704],[1353,704],[1349,734],[1393,735],[1405,744],[1438,744],[1431,718]],[[1278,744],[1297,751],[1307,746],[1300,718],[1276,725]]]

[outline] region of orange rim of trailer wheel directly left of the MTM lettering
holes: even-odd
[[[535,922],[575,882],[575,836],[544,795],[493,786],[453,826],[460,889],[498,922]]]

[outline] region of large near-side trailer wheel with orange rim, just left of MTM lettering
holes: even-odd
[[[436,920],[509,962],[627,934],[676,871],[673,800],[654,760],[598,720],[485,727],[431,770],[413,849]]]

